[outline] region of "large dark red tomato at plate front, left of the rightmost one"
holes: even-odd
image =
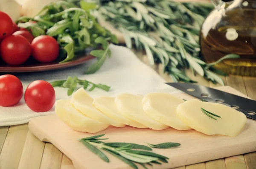
[[[6,37],[0,46],[1,57],[9,65],[21,65],[31,54],[31,46],[25,37],[11,35]]]

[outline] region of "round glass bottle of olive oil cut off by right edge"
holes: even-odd
[[[207,63],[227,54],[240,58],[215,65],[229,74],[256,76],[256,0],[221,3],[204,21],[200,34],[201,52]]]

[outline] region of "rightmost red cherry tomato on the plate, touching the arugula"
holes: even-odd
[[[58,57],[58,42],[48,35],[36,37],[32,43],[32,57],[41,63],[52,62]]]

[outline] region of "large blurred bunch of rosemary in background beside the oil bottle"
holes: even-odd
[[[199,32],[211,4],[171,0],[100,0],[99,4],[96,16],[121,31],[128,48],[134,44],[145,49],[150,65],[162,63],[173,81],[195,82],[185,73],[191,69],[194,75],[224,85],[217,74],[227,74],[212,67],[216,63],[201,60]],[[221,60],[237,57],[229,54]]]

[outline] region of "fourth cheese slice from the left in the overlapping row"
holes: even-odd
[[[118,111],[125,117],[142,123],[154,130],[163,130],[169,128],[169,126],[164,125],[152,117],[146,114],[142,106],[142,98],[140,95],[132,95],[128,93],[123,93],[115,98],[115,103]]]

